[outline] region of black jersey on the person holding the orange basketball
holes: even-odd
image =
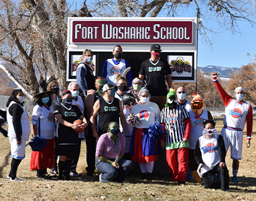
[[[54,106],[54,116],[62,115],[62,119],[68,121],[68,123],[74,123],[79,117],[82,116],[82,112],[76,105],[71,105],[70,109],[64,105]],[[58,137],[58,144],[78,144],[78,133],[76,133],[72,128],[66,127],[57,121],[56,137]]]

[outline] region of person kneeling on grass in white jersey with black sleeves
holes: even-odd
[[[226,149],[223,137],[214,129],[216,121],[204,120],[202,136],[196,141],[194,157],[198,163],[198,174],[202,177],[204,188],[229,190],[229,170],[225,163]],[[215,176],[220,180],[215,182]]]

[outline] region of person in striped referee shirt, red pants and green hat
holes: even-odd
[[[166,107],[162,109],[160,123],[166,135],[161,140],[166,147],[166,160],[172,173],[172,180],[185,184],[188,172],[188,140],[190,139],[190,115],[176,100],[176,92],[170,88]],[[177,164],[178,161],[178,164]]]

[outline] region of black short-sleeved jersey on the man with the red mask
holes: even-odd
[[[170,66],[166,60],[159,58],[157,62],[151,59],[145,60],[141,64],[139,74],[145,75],[145,87],[151,96],[166,96],[166,75],[172,74]]]

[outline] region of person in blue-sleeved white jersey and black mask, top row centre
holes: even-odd
[[[113,86],[115,86],[115,84],[117,83],[117,79],[116,79],[117,75],[123,74],[126,68],[131,67],[131,65],[129,64],[129,62],[127,62],[127,60],[124,60],[121,58],[122,55],[123,55],[123,50],[121,46],[117,45],[113,50],[114,58],[110,58],[106,60],[105,63],[103,64],[103,73],[101,76],[103,76],[103,78],[106,78],[107,83],[110,83]],[[129,86],[131,86],[131,82],[133,80],[131,71],[127,73],[127,78],[129,80]]]

